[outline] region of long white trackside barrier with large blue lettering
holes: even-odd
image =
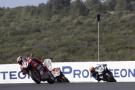
[[[53,67],[60,67],[72,83],[97,82],[91,77],[89,68],[97,64],[107,64],[117,82],[135,82],[135,61],[108,62],[54,62]],[[17,64],[0,64],[0,84],[34,83],[28,75],[20,72]]]

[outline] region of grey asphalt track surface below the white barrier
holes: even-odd
[[[0,84],[0,90],[135,90],[135,82]]]

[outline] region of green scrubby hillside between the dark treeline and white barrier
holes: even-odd
[[[13,9],[14,10],[14,9]],[[0,16],[0,63],[16,63],[19,55],[54,61],[97,61],[96,13],[74,17],[23,14]],[[0,11],[2,12],[2,11]],[[11,14],[12,13],[12,14]],[[100,22],[100,59],[135,60],[135,13],[103,14]]]

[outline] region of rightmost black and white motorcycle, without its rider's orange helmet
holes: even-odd
[[[106,82],[116,82],[112,72],[107,68],[107,64],[98,65],[95,70],[98,82],[101,80]]]

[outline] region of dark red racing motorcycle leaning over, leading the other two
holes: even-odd
[[[55,78],[48,68],[44,67],[42,64],[39,65],[39,63],[36,63],[33,60],[28,62],[28,67],[23,69],[23,72],[28,74],[37,84],[40,84],[41,81],[47,81],[49,84],[55,82]]]

